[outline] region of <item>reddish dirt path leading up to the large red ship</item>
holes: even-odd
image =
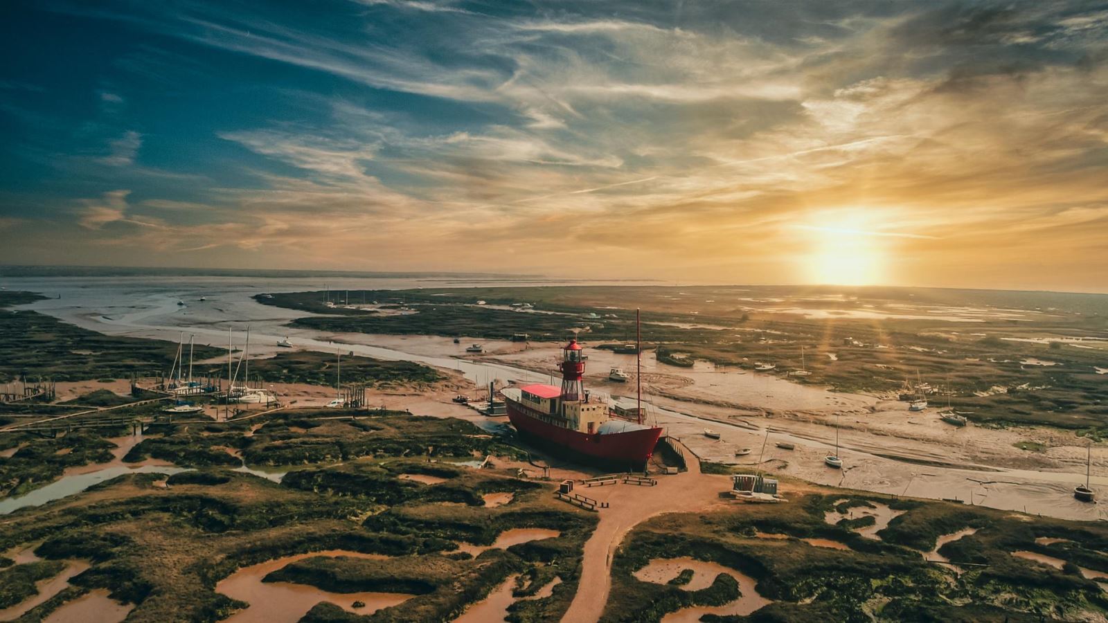
[[[700,463],[691,452],[688,461],[688,471],[659,476],[657,487],[614,484],[574,489],[583,496],[608,502],[611,508],[601,510],[601,521],[585,542],[577,595],[562,621],[576,623],[599,619],[612,589],[612,559],[636,524],[666,512],[696,512],[728,503],[720,493],[731,488],[730,479],[700,473]]]

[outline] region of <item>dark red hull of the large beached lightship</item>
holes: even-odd
[[[661,429],[658,427],[608,435],[589,435],[552,426],[527,415],[530,409],[506,400],[507,419],[529,438],[553,452],[573,455],[589,462],[619,468],[642,468],[654,453]]]

